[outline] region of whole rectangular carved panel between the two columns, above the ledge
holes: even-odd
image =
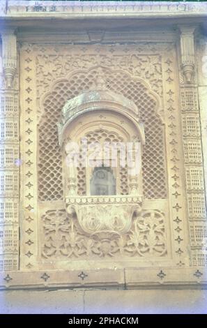
[[[192,31],[190,32],[192,36]],[[68,61],[69,53],[70,61]],[[59,56],[62,58],[61,62]],[[22,256],[20,269],[35,271],[46,268],[77,269],[81,265],[82,269],[88,269],[90,265],[95,268],[133,267],[135,263],[139,267],[151,266],[152,263],[156,266],[163,264],[166,266],[169,263],[177,266],[180,262],[181,265],[189,265],[187,245],[190,241],[187,234],[187,218],[183,220],[187,217],[187,207],[183,145],[179,138],[181,127],[178,121],[181,120],[181,112],[179,99],[176,97],[178,77],[175,74],[174,43],[168,43],[166,40],[165,43],[156,43],[156,45],[147,43],[128,47],[86,45],[84,50],[80,45],[63,44],[59,45],[57,50],[54,44],[44,44],[43,47],[40,44],[30,45],[26,41],[22,43],[20,57],[22,62],[20,152],[21,157],[26,158],[21,165],[20,173],[21,201],[24,208],[20,253],[26,256]],[[92,102],[91,96],[94,97],[94,94],[91,94],[90,89],[98,79],[100,70],[111,89],[110,92],[93,90],[98,99],[92,98]],[[162,79],[166,81],[164,86]],[[27,89],[29,89],[29,97],[27,95],[25,97]],[[82,94],[84,89],[89,92]],[[114,96],[117,89],[118,93],[122,94],[118,100],[118,95]],[[79,97],[74,98],[79,93],[81,93]],[[131,98],[136,100],[137,108],[130,104],[132,106],[130,109],[129,100],[123,98],[123,95],[127,97],[130,93]],[[79,103],[82,98],[87,99],[87,97],[89,97],[88,102]],[[68,102],[71,98],[72,105],[70,100]],[[125,104],[124,107],[122,103]],[[101,112],[98,112],[98,106],[103,108]],[[128,140],[126,136],[130,140],[134,137],[141,139],[141,133],[137,133],[132,125],[132,119],[134,121],[136,117],[138,129],[140,120],[144,124],[146,135],[146,147],[143,145],[142,158],[144,177],[135,180],[136,183],[132,182],[132,185],[135,188],[137,182],[143,179],[143,193],[140,182],[139,189],[132,193],[130,179],[125,172],[120,176],[117,174],[116,180],[123,190],[114,197],[90,197],[89,170],[86,172],[79,170],[78,172],[82,171],[82,173],[75,174],[70,179],[65,162],[60,161],[59,156],[64,154],[64,147],[59,145],[63,141],[62,137],[58,140],[56,133],[60,110],[63,116],[66,114],[62,122],[63,135],[66,139],[70,138],[74,141],[78,141],[82,136],[90,135],[93,139],[106,134],[111,141],[117,140],[117,135],[123,140]],[[71,128],[68,127],[68,120],[70,123],[71,119],[70,110],[72,118],[75,117]],[[32,132],[29,131],[29,139],[33,142],[30,142],[27,133],[24,133],[29,126],[33,127]],[[49,134],[51,130],[52,135]],[[138,130],[140,131],[141,128]],[[59,133],[61,136],[61,129]],[[47,135],[50,136],[49,140]],[[38,138],[40,142],[37,149]],[[29,167],[28,161],[32,162],[29,163]],[[71,198],[69,197],[70,180],[72,184],[70,188],[75,193]],[[61,186],[62,181],[63,186]],[[144,200],[141,204],[139,197],[136,198],[140,194]],[[132,199],[134,196],[135,198]],[[139,217],[136,217],[135,211],[131,209],[135,205],[137,209],[141,207]],[[76,213],[79,212],[79,216],[67,216],[66,207],[75,209]],[[81,208],[83,213],[86,211],[85,216],[89,218],[86,223],[83,223],[84,215]],[[98,228],[93,231],[90,227],[93,237],[89,238],[87,226],[90,225],[92,216]],[[116,223],[116,217],[118,224],[127,227],[126,230],[122,228],[118,231],[118,235],[116,228],[110,223]],[[110,228],[108,223],[104,222],[105,218],[109,221]],[[148,228],[144,227],[146,222]],[[55,233],[53,225],[56,227]],[[59,235],[61,225],[65,230],[62,229]],[[103,226],[105,228],[102,228]],[[30,236],[27,233],[29,229],[33,230]],[[101,236],[100,232],[103,229],[107,230],[107,236],[102,236],[102,239],[98,237],[97,242],[95,236],[98,233]],[[72,234],[73,244],[70,237]],[[138,234],[143,240],[135,246],[136,238],[139,238]],[[110,235],[112,237],[109,237]],[[117,240],[114,235],[117,236]],[[144,240],[148,240],[146,244]],[[183,240],[185,241],[182,242]],[[178,248],[181,248],[181,253],[177,253]]]

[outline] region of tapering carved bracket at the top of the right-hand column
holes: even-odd
[[[194,30],[195,27],[188,25],[180,25],[181,31],[181,70],[185,83],[191,83],[194,77],[195,61],[194,61]]]

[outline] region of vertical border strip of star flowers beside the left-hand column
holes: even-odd
[[[33,47],[22,45],[21,52],[21,202],[22,235],[20,269],[34,269],[37,245],[37,204],[36,204],[36,92],[34,79]]]

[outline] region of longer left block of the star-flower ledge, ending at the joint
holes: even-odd
[[[70,271],[9,271],[0,275],[0,289],[4,288],[123,288],[122,269],[94,269]]]

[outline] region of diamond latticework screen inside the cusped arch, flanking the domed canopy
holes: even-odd
[[[40,200],[61,200],[63,197],[62,158],[56,123],[66,101],[91,88],[98,70],[80,72],[69,80],[56,84],[45,98],[44,114],[38,129],[38,193]],[[155,113],[155,100],[146,87],[123,72],[105,70],[107,87],[117,94],[133,100],[144,123],[146,145],[143,153],[143,188],[147,199],[165,198],[166,172],[164,161],[164,130]]]

